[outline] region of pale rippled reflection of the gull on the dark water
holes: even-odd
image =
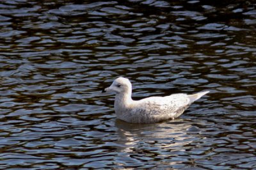
[[[197,128],[191,125],[191,123],[193,122],[176,119],[170,122],[141,124],[127,123],[117,119],[115,121],[115,127],[117,128],[116,134],[118,135],[118,139],[113,141],[113,143],[116,143],[116,149],[119,152],[125,153],[136,154],[138,151],[144,152],[147,146],[153,146],[154,150],[157,151],[182,151],[185,147],[187,149],[188,144],[195,141],[196,137],[198,137],[191,134],[190,129]],[[198,128],[197,134],[200,132]],[[141,143],[143,143],[142,148],[140,147]],[[149,149],[147,151],[148,154],[155,154],[153,150]]]

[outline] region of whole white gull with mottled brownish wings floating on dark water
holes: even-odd
[[[105,91],[113,91],[116,117],[129,123],[156,123],[179,117],[189,105],[209,91],[186,95],[173,94],[166,97],[148,97],[132,100],[132,84],[129,79],[119,77]]]

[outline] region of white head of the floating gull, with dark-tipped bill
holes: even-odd
[[[102,92],[108,92],[112,91],[115,93],[131,93],[132,90],[132,84],[129,81],[129,79],[126,79],[124,77],[119,77],[113,81],[111,86],[109,88],[104,89]]]

